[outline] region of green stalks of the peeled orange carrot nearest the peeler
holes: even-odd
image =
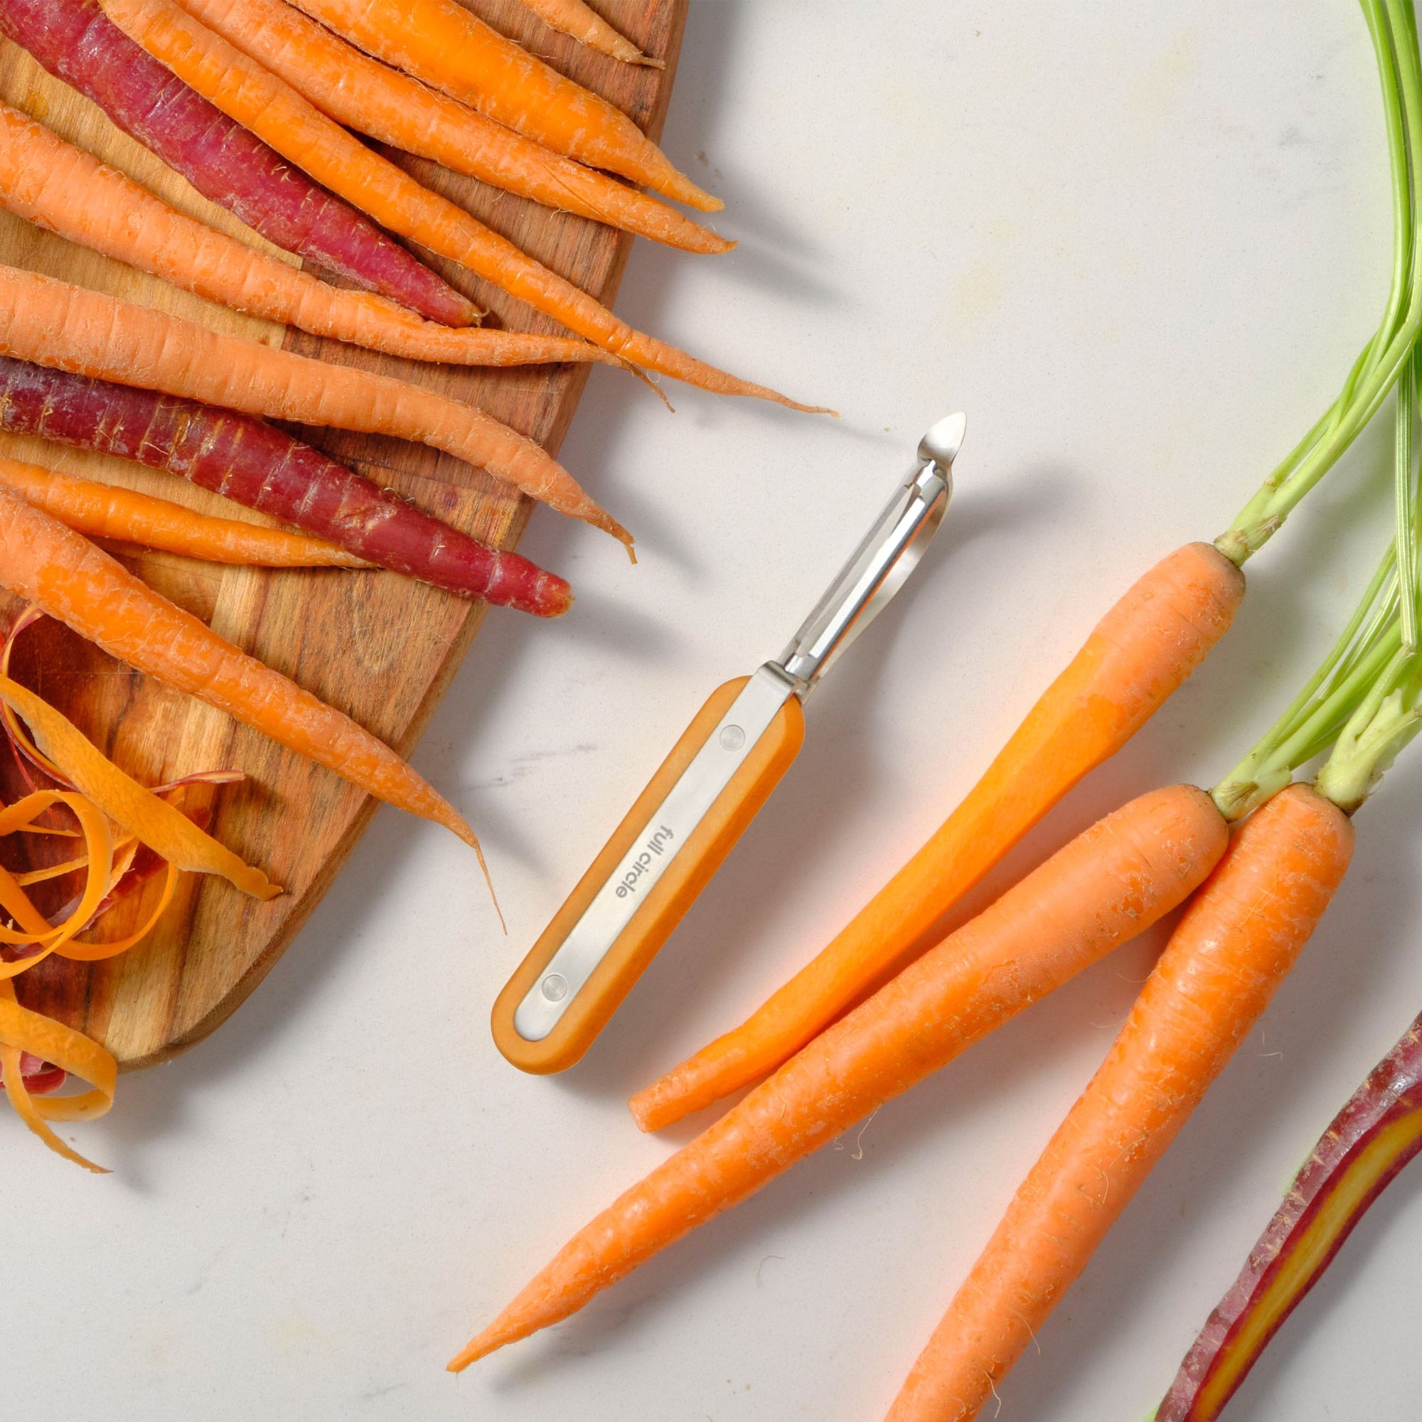
[[[1338,397],[1216,539],[1216,547],[1241,566],[1283,528],[1300,499],[1378,412],[1388,391],[1398,384],[1422,331],[1422,199],[1416,172],[1422,144],[1422,61],[1416,17],[1405,0],[1361,0],[1361,4],[1378,57],[1388,129],[1392,282],[1382,320],[1354,361]],[[1412,398],[1409,394],[1409,401]]]

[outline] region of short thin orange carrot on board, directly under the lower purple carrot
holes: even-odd
[[[370,567],[324,539],[262,523],[219,519],[171,499],[75,479],[18,459],[0,459],[0,483],[85,538],[138,543],[208,563],[259,567]]]

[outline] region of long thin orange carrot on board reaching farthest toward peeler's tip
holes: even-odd
[[[102,3],[105,14],[121,30],[185,84],[391,232],[466,266],[634,365],[718,394],[755,395],[796,410],[809,408],[634,331],[572,282],[373,152],[287,82],[172,0]]]

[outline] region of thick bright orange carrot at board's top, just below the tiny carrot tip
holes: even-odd
[[[455,0],[299,0],[367,54],[515,132],[701,212],[724,203],[667,161],[620,109],[496,34]]]

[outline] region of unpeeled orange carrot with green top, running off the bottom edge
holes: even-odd
[[[914,1364],[892,1422],[968,1422],[995,1394],[1288,975],[1352,843],[1348,818],[1303,785],[1244,823]]]

